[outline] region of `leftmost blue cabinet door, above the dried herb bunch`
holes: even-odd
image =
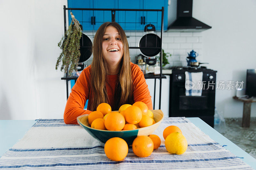
[[[68,8],[93,8],[93,0],[68,0]],[[83,26],[83,30],[92,30],[95,25],[91,23],[93,19],[93,11],[82,11],[73,10],[72,11],[75,18]],[[70,10],[68,10],[68,23],[71,23]]]

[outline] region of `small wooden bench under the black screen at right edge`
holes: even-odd
[[[250,127],[251,106],[253,102],[256,102],[256,99],[239,98],[236,96],[233,96],[233,99],[244,102],[242,127]]]

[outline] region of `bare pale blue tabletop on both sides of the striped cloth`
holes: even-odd
[[[208,135],[212,140],[224,146],[227,150],[242,159],[245,163],[256,169],[256,159],[254,159],[247,152],[239,148],[233,142],[225,138],[218,131],[206,124],[199,117],[187,117],[196,127]],[[15,122],[15,126],[12,124]],[[26,132],[37,122],[37,120],[0,120],[0,136],[6,138],[0,139],[0,157],[8,151],[19,139],[23,138]],[[17,125],[20,128],[15,128]],[[8,130],[6,130],[8,128]],[[6,142],[8,141],[8,143]]]

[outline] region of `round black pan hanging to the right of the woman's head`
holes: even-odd
[[[148,27],[152,27],[148,29]],[[144,28],[144,32],[156,31],[156,27],[153,24],[148,24]],[[139,42],[139,47],[161,47],[161,39],[154,33],[145,34]],[[153,57],[160,53],[161,49],[145,49],[140,48],[140,52],[146,57]]]

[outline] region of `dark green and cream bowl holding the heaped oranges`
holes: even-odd
[[[92,135],[94,138],[96,138],[100,142],[106,143],[107,140],[110,138],[119,137],[124,139],[128,145],[132,145],[133,140],[137,136],[141,136],[141,135],[148,136],[152,134],[164,119],[164,114],[161,110],[151,110],[151,111],[153,112],[153,115],[154,115],[154,120],[156,122],[155,124],[152,124],[151,126],[138,128],[134,130],[127,130],[127,131],[108,131],[108,130],[99,130],[99,129],[91,128],[88,122],[87,114],[77,117],[76,120],[77,120],[77,123],[80,124],[80,126],[82,126],[90,135]],[[82,117],[85,117],[83,123],[80,122]]]

